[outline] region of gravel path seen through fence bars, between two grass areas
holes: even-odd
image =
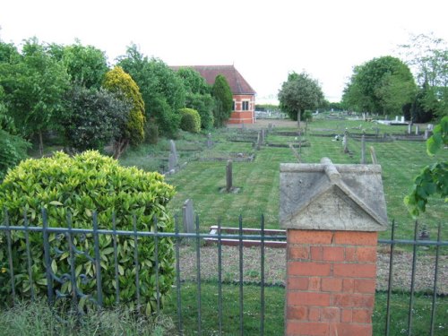
[[[243,275],[245,281],[260,281],[260,248],[243,249]],[[390,254],[380,251],[377,254],[376,289],[386,290],[389,279]],[[265,249],[265,282],[268,284],[285,284],[285,249]],[[180,267],[182,280],[196,279],[196,251],[194,246],[182,246],[180,249]],[[396,252],[393,263],[392,289],[410,289],[412,270],[412,253]],[[434,287],[435,256],[418,253],[416,263],[416,291],[431,290]],[[218,279],[218,248],[201,247],[202,280]],[[237,247],[222,246],[222,280],[239,280],[239,251]],[[448,294],[448,255],[439,258],[437,292]]]

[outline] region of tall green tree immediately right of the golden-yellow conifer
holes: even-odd
[[[175,134],[180,124],[178,110],[185,107],[183,81],[159,59],[143,56],[136,45],[127,47],[118,65],[138,84],[146,117],[155,117],[162,133]]]

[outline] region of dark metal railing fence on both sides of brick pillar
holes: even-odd
[[[26,219],[26,216],[24,217]],[[285,240],[285,236],[282,235],[269,235],[267,236],[266,230],[264,228],[264,219],[263,216],[260,220],[260,230],[252,235],[247,235],[244,232],[243,229],[243,220],[240,217],[239,218],[239,226],[237,230],[233,234],[223,234],[223,231],[220,226],[220,222],[218,222],[218,228],[216,229],[215,233],[201,233],[200,232],[200,226],[199,226],[199,219],[196,218],[195,220],[195,227],[196,232],[195,233],[180,233],[179,232],[179,220],[177,218],[175,219],[175,232],[158,232],[157,225],[154,225],[155,230],[153,232],[148,231],[138,231],[136,229],[136,220],[134,218],[134,230],[132,231],[125,231],[125,230],[119,230],[116,229],[115,221],[113,223],[112,229],[101,229],[98,227],[98,219],[97,214],[92,213],[92,224],[93,228],[87,229],[87,228],[72,228],[72,225],[70,223],[70,220],[67,221],[67,227],[66,228],[51,228],[48,227],[48,220],[47,220],[47,213],[46,211],[42,211],[42,219],[43,219],[43,225],[42,227],[34,227],[29,226],[27,221],[25,220],[24,224],[21,226],[13,225],[13,223],[10,223],[7,218],[4,220],[4,225],[0,226],[0,242],[4,239],[1,244],[5,244],[4,250],[6,251],[6,254],[4,255],[4,260],[0,260],[0,262],[4,262],[2,271],[6,272],[7,278],[9,280],[7,283],[1,284],[0,287],[3,287],[3,289],[6,288],[8,292],[10,293],[10,297],[12,301],[23,298],[21,297],[15,288],[15,282],[16,278],[14,275],[14,264],[13,264],[13,243],[12,243],[12,234],[22,232],[23,233],[23,239],[24,239],[24,248],[23,253],[25,253],[26,260],[27,260],[27,270],[28,270],[28,278],[30,283],[33,282],[33,271],[32,271],[32,258],[30,256],[30,233],[39,233],[42,235],[42,248],[44,250],[44,264],[46,268],[46,279],[47,279],[47,298],[48,302],[50,304],[54,304],[56,300],[62,299],[65,297],[65,299],[73,300],[74,303],[78,302],[80,299],[89,299],[90,301],[94,302],[98,306],[103,306],[103,297],[102,297],[102,280],[101,280],[101,255],[100,255],[100,249],[99,249],[99,240],[100,237],[112,237],[113,240],[113,246],[114,246],[114,263],[113,265],[108,265],[108,267],[113,267],[115,270],[115,280],[116,283],[119,281],[119,262],[117,257],[117,248],[116,248],[116,238],[120,236],[125,237],[133,237],[134,238],[134,251],[133,255],[130,256],[134,258],[134,265],[135,265],[135,297],[137,300],[137,305],[144,305],[144,303],[141,302],[140,297],[140,271],[141,268],[139,265],[142,263],[142,257],[145,256],[138,254],[138,244],[139,244],[139,237],[152,237],[155,242],[155,255],[159,255],[158,253],[158,242],[159,239],[163,237],[169,237],[173,240],[174,243],[174,249],[175,249],[175,255],[176,255],[176,278],[174,281],[174,289],[176,292],[176,309],[177,309],[177,330],[179,334],[185,333],[186,329],[191,329],[191,325],[188,327],[185,327],[185,321],[184,321],[184,315],[183,315],[183,297],[181,295],[182,287],[185,285],[185,282],[181,280],[181,258],[180,258],[180,248],[182,245],[185,245],[185,242],[188,242],[191,246],[194,247],[195,251],[195,281],[194,286],[196,286],[196,310],[197,310],[197,319],[195,324],[195,329],[197,334],[205,334],[202,330],[202,285],[204,284],[204,281],[202,280],[202,245],[206,240],[214,240],[216,242],[216,248],[217,248],[217,254],[218,254],[218,274],[217,274],[217,289],[218,289],[218,300],[217,300],[217,315],[216,315],[216,326],[217,326],[217,333],[222,334],[225,332],[225,325],[223,325],[223,315],[225,312],[223,312],[223,289],[222,285],[225,281],[223,281],[223,272],[222,272],[222,246],[224,241],[232,241],[234,246],[237,247],[236,253],[234,255],[234,258],[237,259],[238,263],[238,278],[236,281],[233,281],[234,285],[237,285],[237,306],[238,306],[238,314],[237,316],[234,316],[234,323],[237,321],[238,328],[237,332],[240,335],[246,335],[250,332],[247,332],[245,330],[245,320],[247,320],[247,316],[245,315],[245,302],[244,302],[244,292],[245,292],[245,286],[246,282],[244,280],[244,263],[245,263],[245,241],[250,240],[252,242],[258,241],[256,248],[260,251],[260,259],[259,259],[259,281],[257,281],[256,286],[258,288],[258,296],[259,296],[259,302],[260,311],[257,314],[257,318],[259,318],[259,327],[256,332],[256,334],[263,335],[265,334],[265,319],[266,319],[266,313],[265,313],[265,289],[266,289],[266,282],[265,282],[265,252],[266,252],[266,241],[269,239],[269,241],[281,241]],[[412,246],[412,270],[411,270],[411,283],[409,288],[409,310],[408,310],[408,321],[406,323],[406,328],[401,330],[401,333],[404,334],[415,334],[413,333],[413,316],[414,316],[414,305],[415,305],[415,279],[416,279],[416,268],[417,268],[417,259],[418,259],[418,246],[434,246],[435,249],[435,273],[434,273],[434,279],[433,279],[433,290],[430,295],[431,297],[431,314],[430,314],[430,323],[427,330],[427,334],[434,335],[437,334],[437,328],[435,328],[435,315],[436,315],[436,309],[437,309],[437,299],[439,297],[444,297],[446,293],[438,293],[437,291],[437,283],[438,283],[438,272],[439,272],[439,263],[442,255],[442,248],[448,246],[448,241],[444,241],[441,238],[441,232],[442,232],[442,226],[439,225],[438,227],[438,233],[436,240],[428,240],[421,239],[419,237],[419,234],[421,235],[421,230],[418,228],[418,223],[415,224],[414,229],[414,239],[412,240],[405,240],[405,239],[396,239],[395,238],[395,223],[392,222],[392,237],[391,239],[379,239],[378,243],[380,245],[384,246],[390,246],[390,257],[389,257],[389,272],[388,272],[388,286],[386,290],[386,297],[387,297],[387,304],[386,304],[386,312],[385,312],[385,321],[383,323],[382,330],[379,332],[378,328],[376,328],[375,334],[385,334],[385,335],[391,335],[395,334],[392,332],[391,328],[391,316],[392,316],[392,309],[391,309],[391,300],[393,296],[393,288],[392,288],[392,280],[393,280],[393,274],[394,274],[394,257],[395,257],[395,248],[396,246]],[[63,235],[66,240],[68,241],[68,251],[65,251],[65,253],[68,252],[68,263],[70,264],[70,271],[66,272],[64,274],[57,274],[52,269],[52,254],[55,253],[62,253],[63,251],[55,251],[55,247],[52,246],[52,242],[50,241],[50,235],[56,234],[56,235]],[[73,239],[76,237],[82,237],[83,235],[91,235],[93,237],[94,241],[94,247],[93,247],[93,255],[86,255],[85,252],[77,249],[77,247],[73,244]],[[2,239],[3,238],[3,239]],[[237,242],[237,244],[235,244]],[[75,267],[75,256],[78,254],[84,255],[90,262],[94,265],[95,268],[95,279],[92,279],[96,283],[96,295],[90,295],[90,294],[84,294],[81,289],[77,288],[77,280],[86,280],[87,276],[85,274],[79,274],[76,275]],[[0,254],[1,256],[1,254]],[[280,261],[279,261],[280,262]],[[280,263],[284,263],[284,260],[282,260]],[[156,285],[156,309],[155,313],[159,314],[161,309],[161,300],[159,297],[159,260],[156,257],[155,258],[155,264],[154,267],[156,269],[155,272],[155,285]],[[9,276],[8,276],[9,275]],[[70,295],[66,295],[61,293],[56,289],[57,286],[54,286],[57,283],[65,283],[70,282],[71,283],[71,293]],[[119,286],[116,286],[116,304],[119,303]],[[427,294],[427,293],[426,293]],[[427,295],[426,295],[427,297]],[[33,292],[33,286],[30,286],[30,295],[25,298],[35,298],[35,293]],[[444,313],[444,312],[442,312]],[[271,314],[271,312],[270,312]],[[282,315],[283,313],[283,307],[281,307],[281,312],[279,315]],[[251,317],[253,318],[253,317]],[[374,317],[374,325],[375,325],[375,317]],[[439,331],[440,332],[440,331]],[[445,330],[446,332],[446,330]],[[282,331],[281,331],[282,333]],[[254,333],[251,333],[254,334]],[[280,333],[279,333],[280,334]],[[444,334],[444,333],[438,333],[438,334]]]

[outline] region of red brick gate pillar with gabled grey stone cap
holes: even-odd
[[[286,335],[372,335],[377,231],[387,215],[377,165],[280,165],[287,228]]]

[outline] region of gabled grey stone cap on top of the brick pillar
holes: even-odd
[[[381,166],[280,164],[280,226],[299,229],[387,229]]]

